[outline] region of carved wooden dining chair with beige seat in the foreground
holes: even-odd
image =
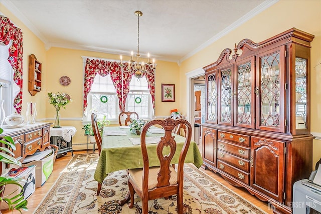
[[[187,135],[182,150],[177,150],[173,129],[179,124],[187,127]],[[159,136],[156,154],[160,166],[149,167],[148,153],[146,148],[146,133],[150,126],[159,125],[165,129],[164,136]],[[183,213],[183,180],[184,160],[191,142],[192,126],[185,119],[174,120],[151,120],[143,127],[140,134],[140,146],[142,151],[143,168],[128,170],[128,187],[130,192],[129,208],[134,205],[134,193],[137,193],[142,200],[142,213],[148,212],[148,200],[165,197],[168,198],[177,194],[177,210]],[[165,149],[165,150],[164,150]],[[180,152],[177,171],[173,168],[171,160],[175,152]],[[166,153],[166,154],[165,154]]]

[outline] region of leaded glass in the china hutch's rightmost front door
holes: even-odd
[[[261,58],[261,121],[262,126],[280,126],[280,54]]]

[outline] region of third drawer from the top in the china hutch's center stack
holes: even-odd
[[[241,169],[245,172],[250,172],[250,161],[237,157],[233,154],[221,151],[220,149],[217,150],[217,158],[223,160],[231,165],[235,166],[238,169]]]

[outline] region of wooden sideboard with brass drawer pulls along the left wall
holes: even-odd
[[[23,161],[26,156],[33,155],[36,151],[44,151],[50,148],[50,125],[52,123],[28,124],[21,128],[4,129],[0,135],[10,136],[16,144],[16,150],[13,151],[15,158]],[[1,165],[1,174],[3,173]]]

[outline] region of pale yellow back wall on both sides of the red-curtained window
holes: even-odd
[[[85,57],[103,58],[119,60],[119,55],[104,54],[98,52],[72,50],[63,48],[51,48],[47,52],[47,91],[46,92],[65,92],[70,95],[73,102],[66,106],[66,109],[60,111],[61,124],[65,126],[75,126],[77,129],[76,135],[73,137],[73,146],[75,149],[85,148],[77,146],[78,143],[84,143],[86,136],[82,130],[83,117],[83,59]],[[127,59],[128,58],[128,59]],[[129,57],[123,56],[123,60],[129,60]],[[179,99],[171,104],[162,102],[161,100],[161,84],[175,84],[179,79],[179,67],[177,63],[157,61],[157,69],[155,72],[155,115],[169,115],[169,109],[177,108]],[[61,76],[68,76],[71,83],[68,86],[62,86],[59,83]],[[173,79],[168,78],[173,77]],[[180,91],[179,87],[177,89]],[[45,99],[47,99],[45,97]],[[46,103],[47,118],[53,119],[55,109],[49,102]],[[51,122],[53,122],[51,120]]]

